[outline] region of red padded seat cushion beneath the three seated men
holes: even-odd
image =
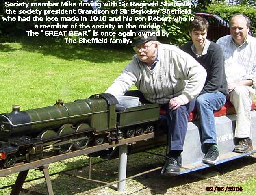
[[[255,102],[252,101],[252,108],[251,110],[255,110],[256,109],[256,105]],[[166,111],[164,109],[160,109],[160,115],[166,115]],[[230,114],[235,114],[236,111],[234,109],[233,104],[231,104],[230,101],[227,101],[224,106],[221,107],[221,109],[219,109],[218,111],[213,111],[214,113],[214,117],[220,117],[223,115],[230,115]],[[198,115],[197,115],[197,110],[193,110],[191,113],[189,113],[189,122],[194,121],[198,119]]]

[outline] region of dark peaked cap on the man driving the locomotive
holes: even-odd
[[[136,31],[136,36],[133,37],[134,41],[132,46],[141,45],[148,41],[156,41],[156,30],[154,29],[143,29]]]

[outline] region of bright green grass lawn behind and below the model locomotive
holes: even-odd
[[[113,50],[48,40],[0,42],[0,113],[10,112],[14,104],[26,110],[52,105],[57,99],[72,102],[103,93],[133,54],[130,48]],[[52,163],[50,173],[87,162],[87,157],[81,156],[69,163]],[[38,176],[42,176],[41,171],[30,171],[27,179]],[[17,174],[12,174],[0,178],[0,188],[13,184],[16,177]],[[44,180],[41,183],[45,188]],[[232,185],[243,186],[242,193],[233,193],[256,194],[255,185],[256,178],[249,179],[246,184]],[[9,193],[10,189],[0,190],[0,195]]]

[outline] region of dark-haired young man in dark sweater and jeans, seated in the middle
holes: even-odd
[[[207,20],[195,17],[189,25],[192,41],[181,49],[193,56],[207,72],[204,87],[196,99],[196,108],[200,115],[202,144],[207,151],[202,162],[214,164],[219,159],[219,150],[213,111],[225,104],[228,88],[223,52],[219,45],[206,39],[208,26]]]

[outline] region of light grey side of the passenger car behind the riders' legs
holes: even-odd
[[[251,139],[256,148],[256,111],[251,111],[252,126]],[[217,143],[220,154],[232,152],[235,147],[234,131],[236,125],[236,114],[215,117],[217,132]],[[201,144],[199,121],[189,122],[188,130],[181,155],[182,165],[201,163],[204,153]]]

